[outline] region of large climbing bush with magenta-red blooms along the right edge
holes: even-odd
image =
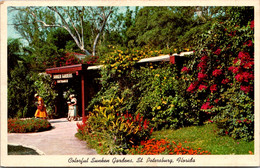
[[[186,91],[197,122],[213,119],[222,134],[253,139],[254,121],[254,31],[247,26],[215,23],[204,35],[185,66],[190,73]],[[187,97],[187,98],[188,98]],[[196,117],[195,117],[196,118]],[[237,122],[244,121],[247,122]]]

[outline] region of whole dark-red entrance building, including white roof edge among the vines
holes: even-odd
[[[146,63],[155,63],[155,62],[170,62],[172,64],[177,64],[179,68],[182,67],[182,64],[187,59],[185,56],[192,55],[191,52],[182,52],[175,53],[171,55],[161,55],[157,57],[144,58],[139,60],[137,63],[139,66]],[[62,95],[64,87],[76,86],[77,90],[77,99],[78,105],[82,118],[85,118],[85,108],[88,105],[88,102],[91,101],[91,98],[99,91],[100,85],[99,81],[96,79],[100,77],[99,70],[102,65],[89,66],[88,64],[76,64],[62,67],[55,67],[46,69],[46,73],[50,74],[52,79],[56,83],[56,88],[58,90],[60,98],[56,102],[57,110],[55,111],[64,111],[64,104],[62,104]],[[79,101],[80,100],[80,101]],[[64,101],[63,101],[64,102]],[[66,105],[65,105],[66,106]],[[64,113],[64,112],[63,112]]]

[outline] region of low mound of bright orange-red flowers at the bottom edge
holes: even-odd
[[[211,154],[208,151],[203,151],[201,148],[196,150],[190,147],[183,147],[182,143],[177,144],[168,139],[155,140],[149,139],[142,141],[140,146],[132,146],[129,154],[136,155],[207,155]]]

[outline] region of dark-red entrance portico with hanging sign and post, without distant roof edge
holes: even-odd
[[[87,64],[46,69],[46,73],[50,74],[54,80],[59,94],[55,103],[55,113],[67,113],[67,106],[65,105],[65,101],[62,100],[63,92],[65,91],[65,88],[74,86],[77,92],[76,95],[81,116],[82,118],[85,118],[85,108],[91,98],[99,90],[99,84],[95,80],[99,76],[99,69],[100,66],[89,66]]]

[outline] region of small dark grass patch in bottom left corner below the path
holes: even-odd
[[[23,147],[21,145],[8,145],[8,155],[39,155],[34,149]]]

